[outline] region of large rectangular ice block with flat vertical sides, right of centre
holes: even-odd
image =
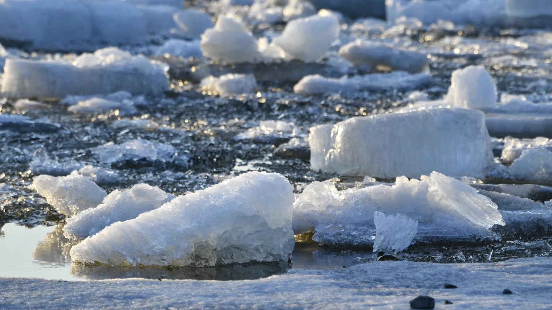
[[[311,167],[339,175],[485,177],[492,159],[484,114],[427,109],[352,117],[311,128]]]

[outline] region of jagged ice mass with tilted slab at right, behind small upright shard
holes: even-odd
[[[418,222],[416,240],[495,238],[488,229],[505,225],[497,205],[468,184],[433,172],[422,180],[400,177],[392,186],[338,191],[329,181],[296,195],[295,233],[332,245],[372,245],[374,212],[402,214]]]

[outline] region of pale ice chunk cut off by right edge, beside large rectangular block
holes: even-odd
[[[512,177],[521,180],[552,180],[552,152],[546,148],[529,148],[513,161],[509,170]]]

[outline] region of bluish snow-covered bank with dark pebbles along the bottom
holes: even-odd
[[[552,258],[493,264],[378,261],[334,271],[291,270],[256,281],[0,278],[3,309],[408,309],[419,295],[436,309],[549,309]],[[443,284],[458,288],[448,290]],[[512,295],[503,295],[508,288]],[[55,298],[54,298],[55,296]],[[444,305],[444,300],[453,305]]]

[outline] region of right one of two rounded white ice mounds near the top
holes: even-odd
[[[312,62],[326,54],[338,37],[339,22],[335,17],[312,15],[289,22],[273,42],[282,47],[286,57]]]

